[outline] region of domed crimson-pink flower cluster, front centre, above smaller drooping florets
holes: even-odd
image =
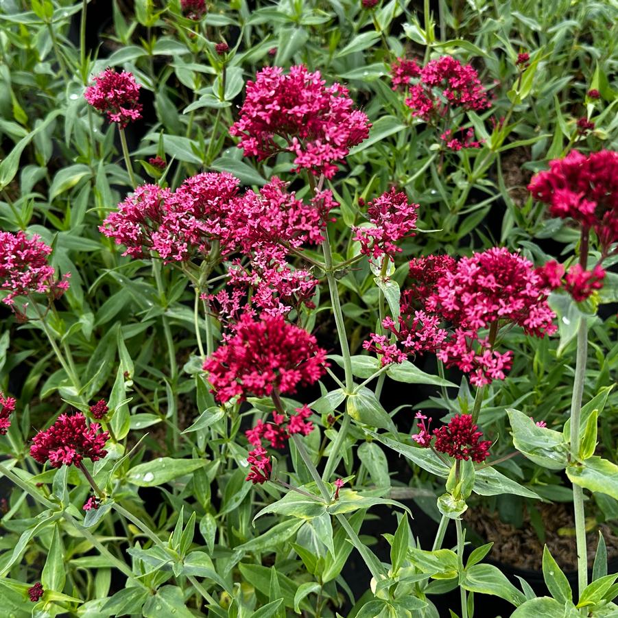
[[[324,372],[326,350],[316,337],[289,324],[281,316],[254,320],[243,314],[224,335],[224,344],[204,361],[204,371],[222,403],[235,396],[294,393],[299,385],[318,381]]]

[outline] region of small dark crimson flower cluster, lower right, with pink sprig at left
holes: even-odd
[[[457,460],[471,459],[477,464],[484,462],[489,457],[491,440],[481,440],[482,431],[477,431],[478,426],[473,423],[471,414],[456,414],[451,418],[448,425],[442,425],[433,429],[433,435],[429,433],[429,422],[425,424],[427,416],[420,412],[416,414],[420,421],[420,431],[412,436],[412,439],[421,447],[431,447],[432,438],[436,438],[433,449],[438,453],[446,453]]]

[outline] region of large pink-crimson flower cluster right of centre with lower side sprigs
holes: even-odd
[[[429,256],[410,262],[416,285],[401,295],[397,322],[385,318],[385,335],[372,333],[364,348],[382,356],[382,364],[407,355],[435,353],[447,367],[471,375],[474,385],[504,379],[512,352],[500,353],[481,329],[500,321],[543,337],[556,331],[547,305],[547,289],[532,263],[506,248],[492,248],[455,261]],[[495,336],[495,335],[494,335]],[[392,342],[390,338],[392,337]]]

